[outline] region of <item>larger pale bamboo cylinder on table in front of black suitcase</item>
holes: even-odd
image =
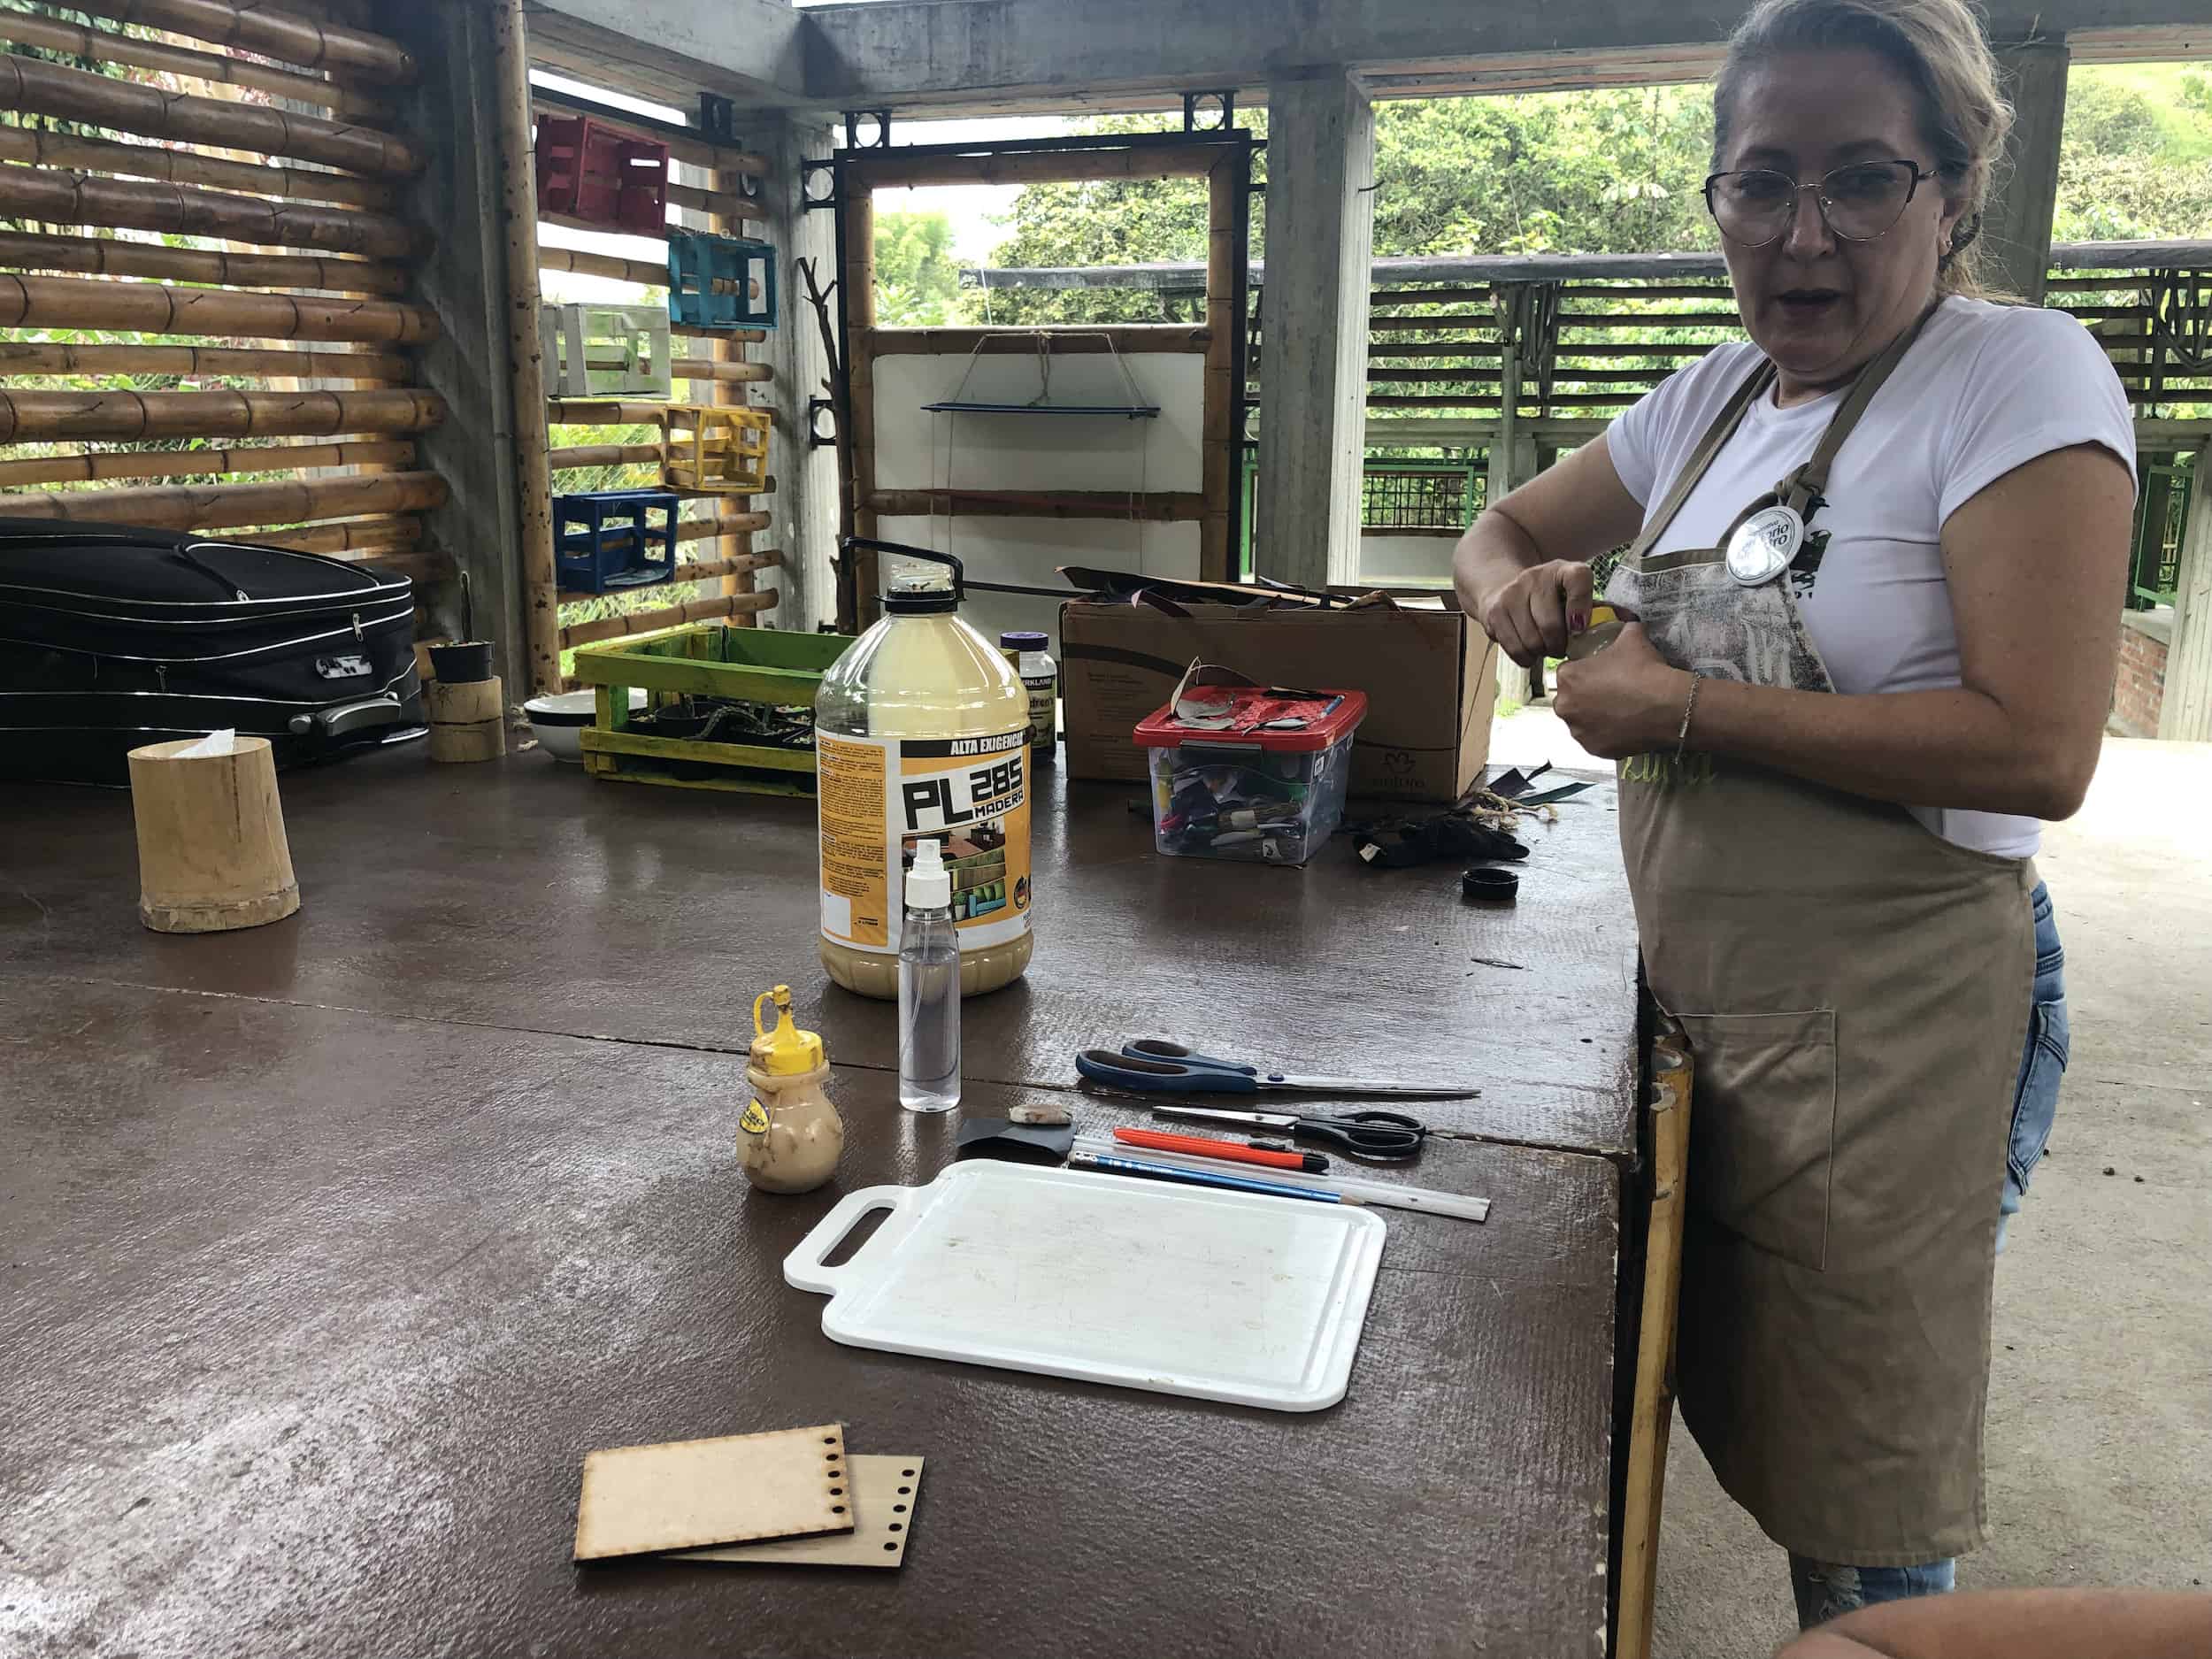
[[[131,750],[139,920],[155,933],[261,927],[299,909],[292,847],[265,737],[179,759],[204,739]]]

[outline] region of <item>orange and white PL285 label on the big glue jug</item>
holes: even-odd
[[[814,739],[823,938],[898,953],[905,874],[945,847],[962,949],[1029,931],[1029,734]]]

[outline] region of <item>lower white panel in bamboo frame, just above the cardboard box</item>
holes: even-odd
[[[1139,549],[1139,529],[1144,546]],[[975,582],[1020,582],[1060,586],[1055,568],[1091,564],[1108,571],[1194,582],[1199,575],[1197,524],[1130,524],[1099,518],[927,518],[876,520],[885,542],[907,542],[951,553]],[[1073,588],[1068,591],[1073,597]],[[960,615],[984,639],[998,644],[1006,628],[1035,628],[1053,637],[1060,655],[1060,599],[1022,593],[971,593]]]

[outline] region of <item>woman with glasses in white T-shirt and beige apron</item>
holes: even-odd
[[[1763,0],[1705,184],[1750,341],[1458,551],[1621,761],[1646,975],[1697,1053],[1683,1420],[1807,1626],[1947,1590],[1982,1540],[2000,1217],[2066,1060],[2031,860],[2097,763],[2135,442],[2088,332],[1975,283],[2008,122],[1964,0]],[[1635,619],[1588,630],[1624,542]]]

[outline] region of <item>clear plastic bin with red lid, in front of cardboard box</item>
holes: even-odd
[[[1152,761],[1152,845],[1181,858],[1303,865],[1345,816],[1356,690],[1256,686],[1192,664],[1137,726]]]

